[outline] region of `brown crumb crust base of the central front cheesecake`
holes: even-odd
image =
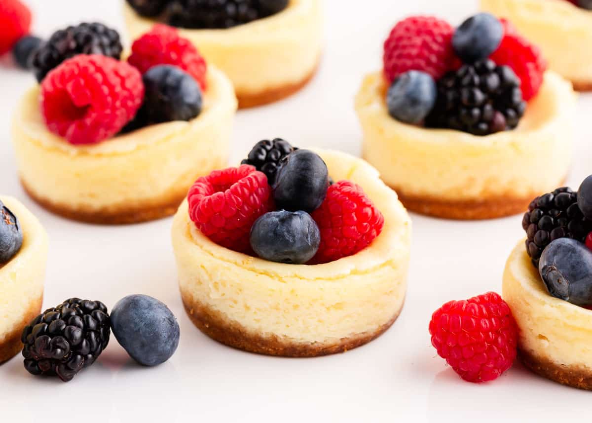
[[[380,326],[374,332],[365,332],[353,337],[342,338],[332,344],[297,344],[276,335],[264,337],[259,334],[253,334],[244,329],[239,322],[229,321],[224,315],[211,309],[211,307],[194,302],[190,296],[185,295],[182,291],[181,297],[189,319],[191,319],[200,331],[214,339],[214,341],[237,348],[238,350],[280,357],[318,357],[321,355],[345,353],[345,351],[353,350],[353,348],[360,347],[378,338],[390,328],[401,313],[401,310],[398,310],[397,314],[390,321],[384,323],[384,325]]]

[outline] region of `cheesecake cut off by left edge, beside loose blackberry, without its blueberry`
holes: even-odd
[[[0,363],[22,350],[22,329],[37,316],[43,302],[47,263],[47,233],[15,198],[0,196],[22,229],[22,246],[9,262],[0,264]]]

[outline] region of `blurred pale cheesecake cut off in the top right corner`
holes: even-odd
[[[481,9],[508,18],[575,89],[592,89],[592,11],[566,0],[481,0]]]

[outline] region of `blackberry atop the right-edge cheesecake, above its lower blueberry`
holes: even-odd
[[[538,267],[540,255],[551,241],[572,238],[584,242],[592,231],[592,221],[585,219],[578,207],[577,193],[563,187],[532,200],[522,227],[527,236],[526,251]]]

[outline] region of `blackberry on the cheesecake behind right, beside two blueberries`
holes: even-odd
[[[488,59],[446,73],[437,89],[426,118],[429,127],[488,135],[514,129],[526,110],[520,79],[508,66]]]

